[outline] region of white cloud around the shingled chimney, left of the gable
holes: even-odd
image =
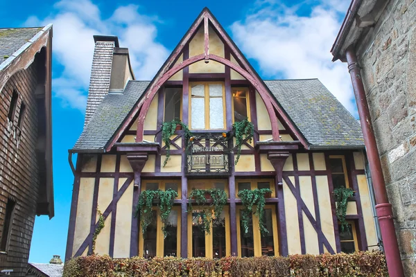
[[[139,6],[117,8],[108,18],[89,0],[62,0],[45,19],[28,17],[26,26],[53,24],[53,59],[62,71],[53,76],[54,96],[64,107],[85,111],[89,76],[94,53],[93,35],[117,35],[121,47],[128,47],[137,79],[149,80],[168,56],[156,42],[156,18],[139,13]]]

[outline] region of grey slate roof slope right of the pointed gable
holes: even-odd
[[[364,147],[360,124],[320,80],[264,82],[311,149]]]

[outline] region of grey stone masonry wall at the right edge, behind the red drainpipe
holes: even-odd
[[[416,1],[390,0],[357,51],[406,276],[416,276],[415,20]]]

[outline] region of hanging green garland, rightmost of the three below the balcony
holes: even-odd
[[[272,190],[268,188],[256,188],[254,190],[240,190],[238,196],[241,198],[241,204],[243,209],[241,210],[241,222],[244,227],[244,234],[248,233],[250,215],[254,205],[257,205],[256,212],[254,213],[259,218],[259,229],[261,235],[268,233],[268,230],[264,226],[264,206],[266,205],[266,199],[264,195],[272,193]]]

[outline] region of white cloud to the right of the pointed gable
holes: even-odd
[[[323,0],[310,15],[301,16],[301,5],[287,8],[274,1],[258,1],[251,15],[232,24],[232,34],[245,55],[259,63],[263,76],[319,78],[356,116],[347,65],[331,62],[329,53],[347,2]]]

